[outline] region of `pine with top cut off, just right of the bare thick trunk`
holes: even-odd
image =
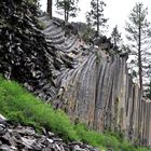
[[[69,17],[76,17],[77,13],[80,11],[78,8],[79,0],[57,0],[56,8],[58,13],[64,15],[65,23],[69,20]]]

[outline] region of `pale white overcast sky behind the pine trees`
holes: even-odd
[[[55,1],[55,0],[54,0]],[[105,8],[105,17],[109,18],[109,32],[112,31],[112,28],[118,25],[119,30],[124,32],[125,20],[128,17],[131,10],[134,8],[136,2],[143,2],[145,6],[149,9],[149,16],[151,16],[151,0],[104,0],[107,3]],[[91,0],[80,0],[79,6],[81,12],[77,18],[71,20],[74,22],[85,22],[85,13],[90,11]],[[42,5],[42,10],[46,10],[46,0],[40,0],[40,4]],[[54,15],[56,13],[54,12]],[[151,22],[151,17],[150,17]]]

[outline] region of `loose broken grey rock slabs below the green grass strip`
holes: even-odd
[[[82,142],[65,143],[52,132],[13,125],[0,114],[0,151],[99,151]]]

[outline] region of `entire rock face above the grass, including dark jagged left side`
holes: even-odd
[[[128,76],[127,54],[116,54],[105,37],[100,47],[86,45],[72,25],[65,28],[46,15],[40,17],[40,31],[36,18],[28,17],[32,8],[23,4],[24,15],[6,2],[0,5],[0,72],[64,109],[72,121],[99,132],[122,132],[135,143],[151,146],[151,101],[141,99]]]

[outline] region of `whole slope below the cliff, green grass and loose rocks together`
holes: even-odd
[[[118,134],[99,134],[88,131],[83,124],[71,123],[63,111],[54,110],[16,82],[2,78],[0,78],[0,113],[9,119],[5,121],[0,116],[1,150],[148,151],[145,148],[133,147]],[[35,129],[39,134],[36,134]],[[96,149],[80,141],[90,143]]]

